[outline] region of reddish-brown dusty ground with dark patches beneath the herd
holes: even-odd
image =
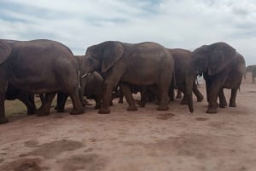
[[[115,101],[110,115],[89,106],[79,116],[10,117],[0,125],[0,170],[254,171],[256,84],[247,77],[238,106],[215,115],[205,113],[206,100],[193,114],[177,100],[170,111],[148,104],[129,112]]]

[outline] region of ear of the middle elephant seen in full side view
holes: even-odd
[[[119,42],[106,42],[102,52],[102,72],[106,72],[118,61],[124,53],[124,47]]]

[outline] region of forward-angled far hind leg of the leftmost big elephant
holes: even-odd
[[[40,106],[40,108],[36,111],[38,114],[38,117],[42,116],[48,116],[49,115],[49,109],[50,105],[52,103],[52,100],[54,99],[56,93],[48,93],[45,94],[45,99],[43,104]]]

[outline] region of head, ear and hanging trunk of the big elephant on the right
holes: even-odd
[[[223,71],[235,59],[236,49],[227,43],[212,43],[193,51],[186,75],[186,92],[189,99],[189,111],[193,112],[192,85],[196,75],[207,72],[213,76]]]

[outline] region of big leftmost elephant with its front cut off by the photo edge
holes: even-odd
[[[71,114],[81,114],[79,71],[73,53],[67,46],[50,40],[0,40],[0,123],[7,123],[4,100],[9,83],[15,88],[44,94],[38,115],[48,115],[56,91],[69,94],[73,100]]]

